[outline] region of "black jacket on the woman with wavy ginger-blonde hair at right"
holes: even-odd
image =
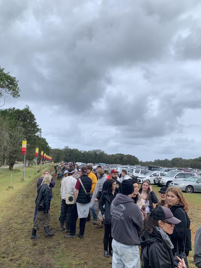
[[[191,232],[190,232],[190,219],[188,217],[188,214],[184,212],[183,206],[180,204],[173,205],[170,207],[170,210],[172,211],[172,214],[174,215],[175,218],[180,219],[181,222],[178,224],[175,224],[174,231],[170,235],[171,241],[173,243],[173,255],[175,252],[177,252],[177,240],[178,240],[178,246],[179,246],[179,253],[184,249],[183,246],[183,239],[185,236],[185,233],[187,232],[187,237],[186,237],[186,256],[189,255],[189,251],[191,249]],[[185,219],[186,216],[186,219]],[[187,222],[187,226],[186,226]]]

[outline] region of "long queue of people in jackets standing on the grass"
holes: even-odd
[[[113,268],[140,268],[140,257],[143,268],[188,267],[187,257],[192,250],[189,205],[179,188],[163,186],[158,200],[148,180],[139,187],[126,170],[119,178],[115,169],[106,176],[101,166],[93,169],[90,164],[80,168],[73,163],[59,163],[55,174],[61,180],[58,220],[65,238],[75,238],[79,218],[77,236],[83,239],[92,211],[93,224],[104,227],[103,252],[105,257],[112,256]],[[40,238],[36,232],[42,227],[45,237],[54,235],[49,231],[54,185],[46,169],[37,182],[32,239]],[[194,261],[201,268],[200,230],[195,237]]]

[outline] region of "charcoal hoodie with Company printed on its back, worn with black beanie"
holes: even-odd
[[[134,200],[117,194],[110,213],[113,239],[125,245],[139,245],[138,231],[143,228],[143,216]]]

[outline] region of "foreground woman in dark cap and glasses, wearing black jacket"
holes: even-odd
[[[148,214],[140,237],[140,245],[143,247],[142,268],[175,267],[172,253],[174,246],[168,235],[173,233],[174,226],[180,222],[164,206],[157,206]],[[177,267],[186,268],[183,259],[179,261]]]

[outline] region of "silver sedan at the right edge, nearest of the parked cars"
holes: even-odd
[[[170,186],[179,187],[182,191],[189,194],[193,192],[201,193],[201,177],[193,176],[183,181],[173,181],[170,183]]]

